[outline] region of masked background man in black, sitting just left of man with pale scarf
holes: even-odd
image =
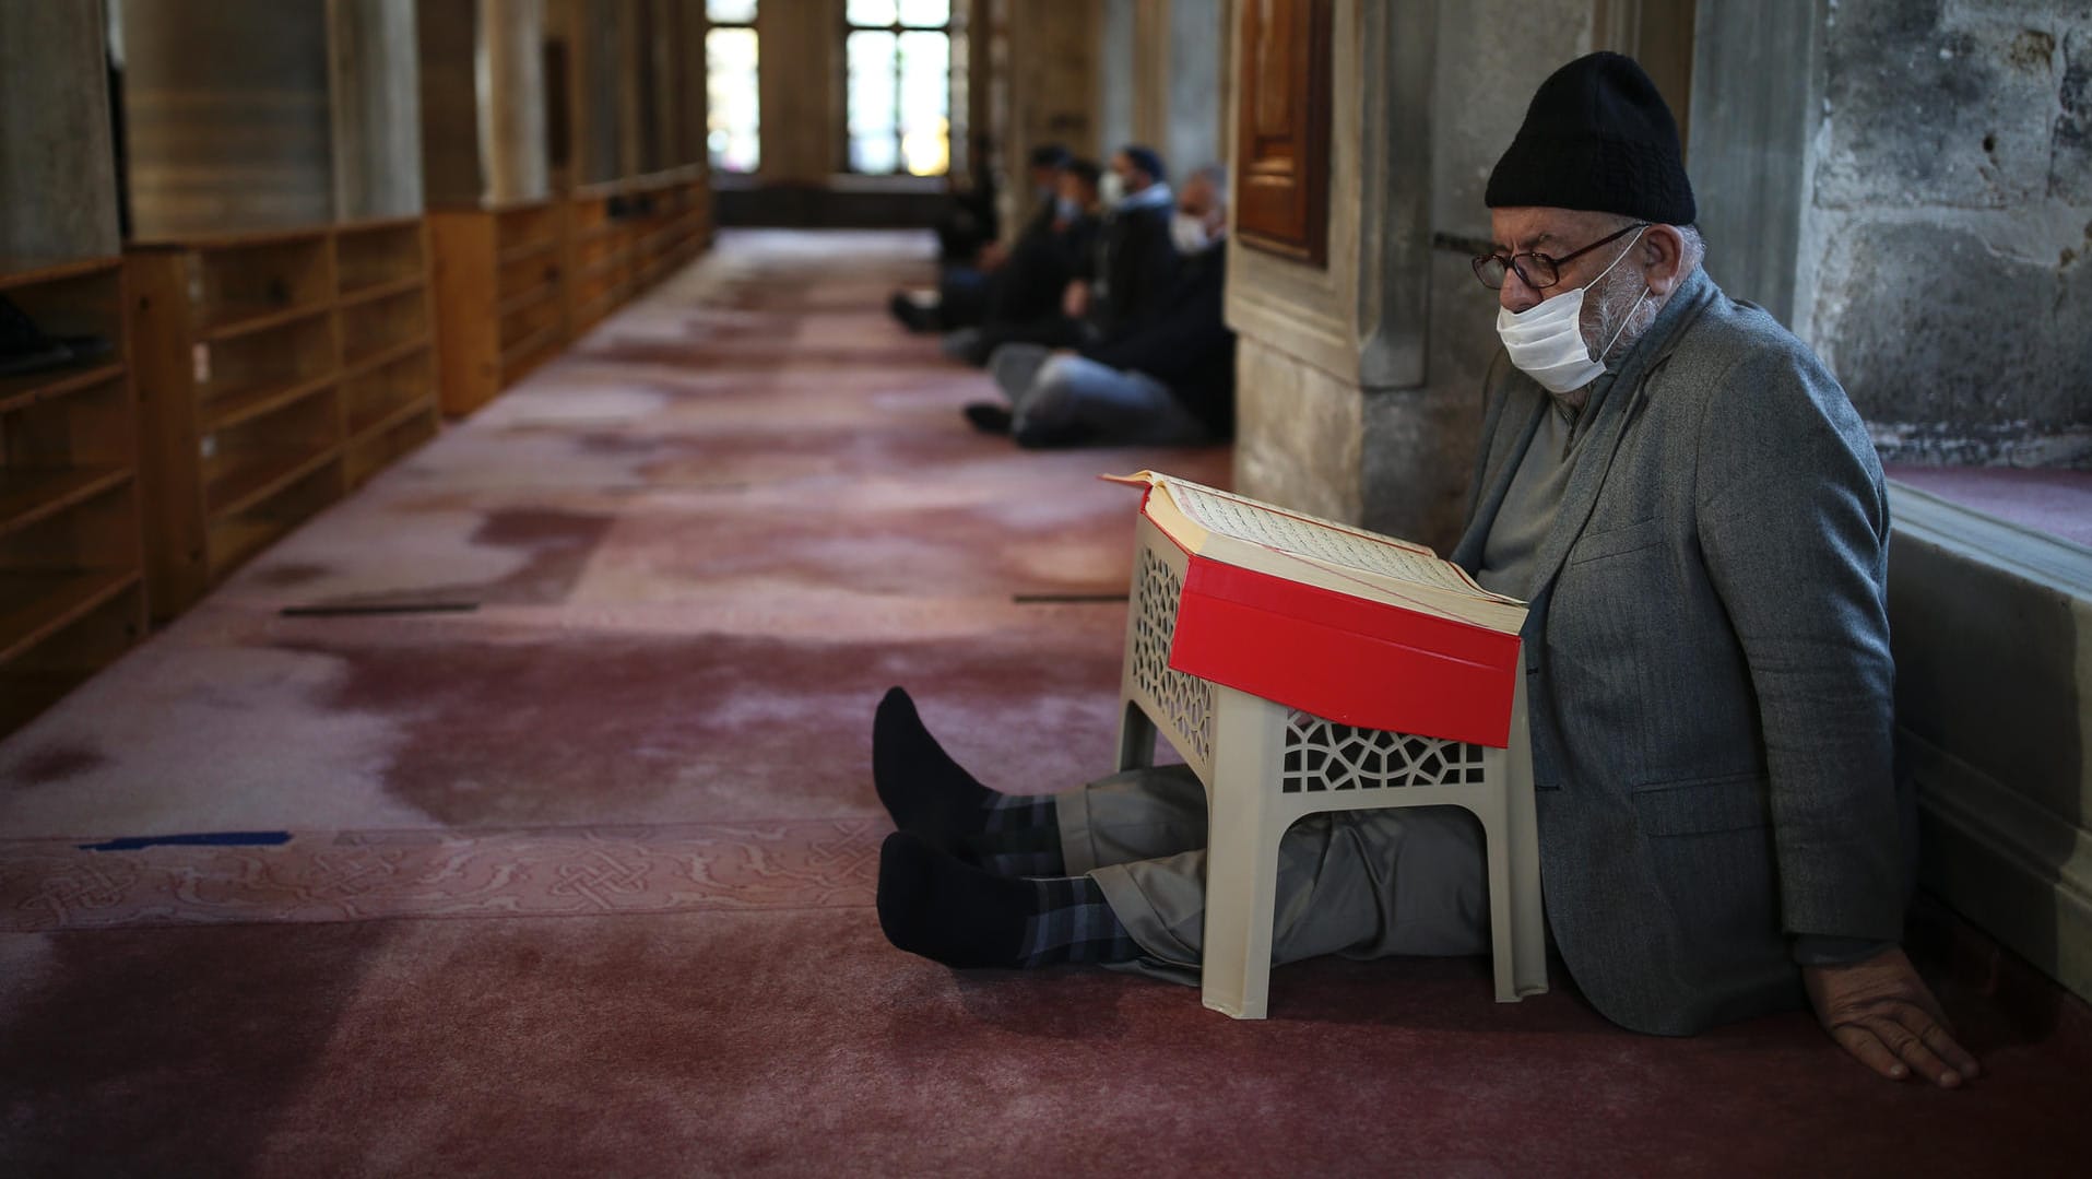
[[[1061,168],[1052,220],[1040,232],[1019,239],[987,285],[979,327],[946,333],[946,356],[985,364],[996,348],[1010,341],[1065,343],[1079,335],[1079,327],[1061,310],[1061,299],[1102,230],[1098,174],[1088,159],[1071,159]]]

